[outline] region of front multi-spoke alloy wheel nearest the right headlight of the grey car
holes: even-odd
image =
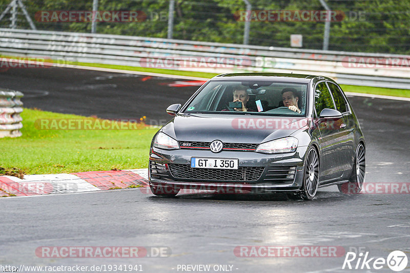
[[[312,200],[316,196],[319,187],[319,156],[315,148],[311,147],[306,153],[303,167],[303,186],[299,196],[304,200]]]

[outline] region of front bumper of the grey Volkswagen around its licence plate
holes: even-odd
[[[293,153],[263,154],[244,151],[213,153],[209,150],[162,150],[152,147],[149,181],[156,187],[172,186],[175,189],[226,193],[297,191],[302,187],[307,148],[298,147]],[[229,171],[229,175],[223,170],[210,174],[210,169],[191,169],[191,157],[238,158],[240,169],[236,172]],[[185,171],[178,171],[181,167]],[[258,169],[260,174],[249,175],[249,170],[253,169]],[[195,172],[200,172],[200,175]],[[243,175],[239,172],[243,172]]]

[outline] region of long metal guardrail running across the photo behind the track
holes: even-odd
[[[404,55],[12,29],[0,29],[0,53],[52,58],[58,60],[56,66],[78,61],[212,73],[292,72],[328,76],[341,84],[410,89],[410,56]],[[181,57],[193,57],[195,65],[180,65]],[[394,65],[377,64],[378,59],[389,58]],[[227,59],[242,62],[227,67]],[[158,65],[164,61],[169,66]]]

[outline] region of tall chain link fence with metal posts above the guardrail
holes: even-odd
[[[318,50],[327,35],[329,50],[410,54],[410,0],[0,0],[0,13],[0,28]]]

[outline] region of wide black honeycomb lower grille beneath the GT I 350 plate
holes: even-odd
[[[237,170],[191,168],[186,164],[168,164],[171,175],[177,179],[256,181],[264,167],[239,167]]]

